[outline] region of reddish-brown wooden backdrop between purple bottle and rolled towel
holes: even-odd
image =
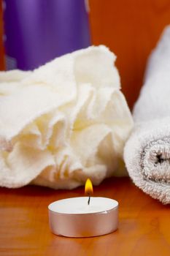
[[[161,32],[170,23],[169,0],[89,0],[94,45],[117,55],[123,93],[130,107],[142,86],[144,69]]]

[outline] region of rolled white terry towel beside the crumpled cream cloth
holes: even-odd
[[[124,159],[136,186],[170,203],[170,26],[152,52]]]

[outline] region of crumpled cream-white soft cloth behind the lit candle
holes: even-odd
[[[112,176],[133,125],[114,62],[93,46],[0,72],[0,186],[72,189]]]

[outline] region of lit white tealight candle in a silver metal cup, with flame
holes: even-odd
[[[86,184],[90,184],[89,180]],[[86,186],[87,187],[87,186]],[[92,187],[92,185],[91,185]],[[72,197],[48,206],[50,229],[59,236],[90,237],[111,233],[118,225],[118,203],[107,197]]]

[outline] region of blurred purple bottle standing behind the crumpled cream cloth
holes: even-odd
[[[5,0],[7,69],[34,69],[90,45],[85,0]]]

